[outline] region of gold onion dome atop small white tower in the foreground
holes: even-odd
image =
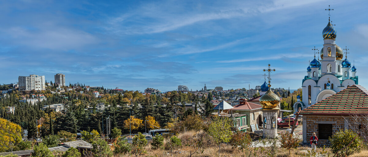
[[[271,85],[268,84],[268,91],[259,98],[259,103],[263,110],[279,109],[280,98],[271,91]]]

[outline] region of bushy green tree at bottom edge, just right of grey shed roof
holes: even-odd
[[[92,153],[95,157],[112,157],[113,151],[103,139],[98,139],[92,143]]]

